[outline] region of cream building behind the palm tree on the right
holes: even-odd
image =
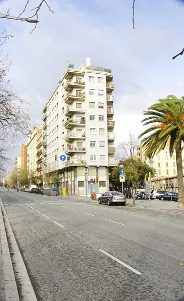
[[[169,143],[169,142],[168,142]],[[175,151],[170,158],[169,144],[166,144],[165,148],[160,151],[159,154],[148,159],[145,157],[145,148],[140,144],[137,146],[137,157],[150,167],[156,170],[155,178],[151,180],[152,187],[157,189],[173,189],[177,190],[177,168]],[[182,150],[182,162],[184,172],[184,150]]]

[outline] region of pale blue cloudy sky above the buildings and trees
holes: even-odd
[[[0,0],[0,13],[18,16],[26,0]],[[23,18],[41,1],[29,1]],[[26,22],[0,18],[0,29],[11,33],[2,51],[12,61],[7,77],[12,90],[28,105],[31,122],[42,123],[42,108],[67,67],[87,57],[112,69],[115,145],[143,130],[143,111],[169,94],[184,95],[182,0],[47,0],[38,12],[36,29]],[[14,169],[20,145],[9,149],[7,169]]]

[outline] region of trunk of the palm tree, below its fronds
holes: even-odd
[[[177,190],[178,190],[178,208],[184,208],[184,185],[182,174],[181,142],[176,145],[176,167],[177,167]]]

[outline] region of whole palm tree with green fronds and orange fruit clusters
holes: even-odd
[[[143,125],[152,124],[139,135],[144,137],[141,142],[145,146],[145,156],[148,158],[159,154],[166,143],[169,145],[170,157],[175,150],[177,167],[178,207],[184,208],[184,186],[182,173],[181,150],[184,142],[184,96],[178,99],[168,95],[166,99],[159,99],[151,105],[144,115],[149,115],[142,120]]]

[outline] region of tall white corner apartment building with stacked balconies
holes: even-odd
[[[90,191],[84,162],[96,179],[96,192],[109,188],[115,166],[112,92],[111,70],[93,66],[88,58],[79,67],[68,65],[43,108],[43,173],[56,171],[70,194],[85,194],[85,185]]]

